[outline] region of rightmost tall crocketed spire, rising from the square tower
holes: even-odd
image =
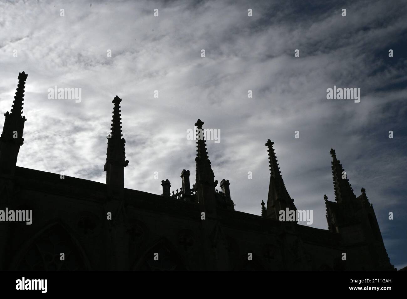
[[[335,201],[342,203],[356,199],[346,172],[340,161],[336,158],[336,153],[333,148],[331,148],[330,154],[332,156],[332,178],[335,190]]]

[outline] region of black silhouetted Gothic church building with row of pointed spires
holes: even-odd
[[[365,189],[354,194],[333,149],[335,201],[324,196],[328,230],[279,220],[280,211],[297,208],[270,140],[269,192],[261,216],[234,210],[227,179],[217,191],[204,138],[197,138],[192,186],[184,169],[182,188],[172,194],[168,179],[161,195],[124,188],[129,161],[118,96],[107,136],[106,183],[16,166],[24,142],[26,78],[19,74],[11,112],[4,114],[0,210],[31,210],[33,219],[31,225],[0,222],[0,270],[395,270]],[[198,130],[203,125],[195,123]]]

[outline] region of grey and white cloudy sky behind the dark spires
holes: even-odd
[[[355,194],[366,189],[390,260],[401,268],[406,15],[402,0],[3,0],[0,111],[10,110],[24,70],[27,122],[18,166],[104,182],[117,94],[130,161],[125,187],[155,194],[163,179],[179,188],[184,168],[195,180],[195,141],[186,132],[200,118],[204,128],[221,132],[219,143],[207,142],[215,179],[229,179],[236,210],[252,214],[267,200],[270,138],[297,208],[313,210],[312,226],[323,229],[323,196],[335,199],[329,153],[335,148]],[[81,102],[48,99],[55,85],[81,88]],[[360,88],[360,103],[327,100],[334,85]]]

